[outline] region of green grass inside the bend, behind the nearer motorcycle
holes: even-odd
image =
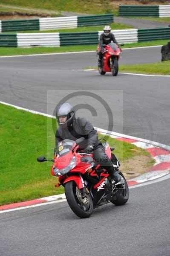
[[[55,189],[51,163],[36,160],[40,155],[53,156],[52,119],[2,104],[0,113],[0,205],[63,193],[63,188]],[[109,144],[121,160],[149,155],[130,143],[109,138]]]

